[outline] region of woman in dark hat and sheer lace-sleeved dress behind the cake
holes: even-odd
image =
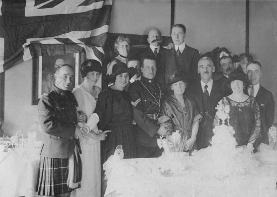
[[[229,121],[234,128],[234,137],[238,146],[247,145],[253,148],[253,143],[261,137],[261,120],[259,106],[253,96],[243,93],[247,86],[247,77],[244,73],[234,71],[229,75],[229,83],[233,93],[222,98],[219,103],[230,106]],[[220,122],[216,115],[214,125]]]

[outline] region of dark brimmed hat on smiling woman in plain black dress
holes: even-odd
[[[110,76],[107,76],[109,79],[109,82],[114,83],[116,76],[122,74],[122,73],[128,73],[129,78],[133,77],[136,74],[135,68],[127,68],[126,63],[116,63],[112,67],[112,74]]]

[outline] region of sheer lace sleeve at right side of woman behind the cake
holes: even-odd
[[[252,107],[252,106],[251,106]],[[256,140],[261,137],[261,118],[260,118],[260,108],[256,100],[253,102],[252,107],[253,113],[254,113],[254,124],[253,130],[250,135],[249,142]]]

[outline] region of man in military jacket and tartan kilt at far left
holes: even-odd
[[[77,101],[70,91],[74,81],[72,67],[59,65],[54,79],[51,91],[38,104],[44,139],[36,190],[39,195],[70,196],[74,188],[80,187],[82,178],[81,150],[77,148],[76,136],[85,136],[84,129],[80,131],[77,125],[85,118],[78,117]]]

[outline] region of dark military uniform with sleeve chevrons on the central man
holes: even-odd
[[[135,143],[141,146],[156,147],[157,134],[160,125],[158,115],[161,111],[162,93],[155,80],[142,77],[141,81],[135,81],[128,88],[131,98]]]

